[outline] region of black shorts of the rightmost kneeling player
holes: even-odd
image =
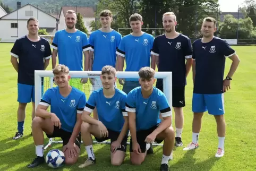
[[[155,126],[151,127],[148,130],[140,130],[140,131],[136,132],[136,138],[137,138],[137,142],[140,145],[141,152],[146,152],[147,143],[145,142],[145,140],[146,140],[146,138],[149,134],[151,134],[153,131],[155,131],[157,129],[158,125],[155,125]],[[157,143],[161,143],[164,140],[160,140],[160,139],[156,138],[155,141]],[[131,138],[131,141],[130,141],[130,152],[133,152],[133,150],[132,150],[132,138]]]

